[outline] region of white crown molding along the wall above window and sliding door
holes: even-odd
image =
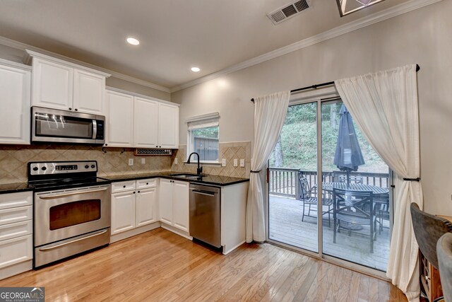
[[[309,47],[311,45],[315,45],[317,43],[332,39],[333,37],[338,37],[340,35],[344,35],[346,33],[350,33],[354,30],[359,30],[360,28],[365,28],[369,25],[379,23],[381,21],[385,21],[389,18],[393,18],[396,16],[400,16],[403,13],[408,13],[410,11],[415,11],[418,8],[422,8],[424,6],[429,6],[430,4],[435,4],[442,0],[411,0],[406,1],[403,4],[398,4],[391,8],[386,8],[383,11],[379,11],[377,13],[373,13],[369,16],[365,16],[363,18],[359,18],[350,23],[346,23],[344,25],[340,25],[337,28],[333,28],[331,30],[326,30],[323,33],[319,33],[319,35],[314,35],[312,37],[308,37],[307,39],[300,40],[298,42],[292,43],[285,47],[281,47],[278,50],[273,50],[271,52],[267,52],[266,54],[262,54],[258,57],[254,57],[253,59],[246,60],[242,63],[232,65],[227,67],[226,69],[222,69],[220,71],[214,72],[213,74],[208,74],[207,76],[203,76],[202,78],[196,79],[194,81],[189,81],[179,86],[174,86],[171,88],[171,93],[176,91],[180,91],[185,88],[189,88],[191,86],[198,85],[200,83],[210,81],[218,78],[219,76],[225,76],[226,74],[231,74],[234,71],[239,71],[241,69],[245,69],[256,64],[261,64],[270,59],[275,59],[277,57],[281,57],[285,54],[289,54],[290,52],[295,52],[297,50],[302,50],[305,47]]]

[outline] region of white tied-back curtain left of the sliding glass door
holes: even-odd
[[[289,106],[290,91],[254,98],[254,148],[251,158],[246,242],[266,240],[263,192],[259,171],[263,169],[280,136]]]

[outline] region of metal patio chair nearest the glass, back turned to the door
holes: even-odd
[[[374,252],[376,240],[376,207],[374,193],[371,191],[352,191],[333,189],[333,243],[336,243],[336,233],[352,230],[354,226],[369,226],[370,252]]]

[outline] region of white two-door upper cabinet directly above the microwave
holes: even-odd
[[[105,78],[101,71],[26,50],[32,60],[33,106],[104,115]]]

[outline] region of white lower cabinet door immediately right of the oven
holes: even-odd
[[[112,235],[135,228],[134,192],[112,194]]]

